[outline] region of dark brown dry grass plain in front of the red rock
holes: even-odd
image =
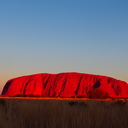
[[[128,102],[0,98],[0,128],[128,128]]]

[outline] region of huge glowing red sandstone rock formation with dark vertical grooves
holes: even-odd
[[[94,93],[94,92],[95,93]],[[128,84],[107,76],[84,73],[35,74],[9,80],[4,96],[128,97]]]

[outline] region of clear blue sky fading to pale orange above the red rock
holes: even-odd
[[[0,0],[0,92],[38,73],[128,82],[127,49],[127,0]]]

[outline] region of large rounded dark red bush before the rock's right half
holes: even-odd
[[[92,99],[95,99],[95,98],[102,99],[102,98],[108,98],[109,95],[107,92],[104,92],[101,89],[96,88],[96,89],[89,91],[87,93],[87,97],[92,98]]]

